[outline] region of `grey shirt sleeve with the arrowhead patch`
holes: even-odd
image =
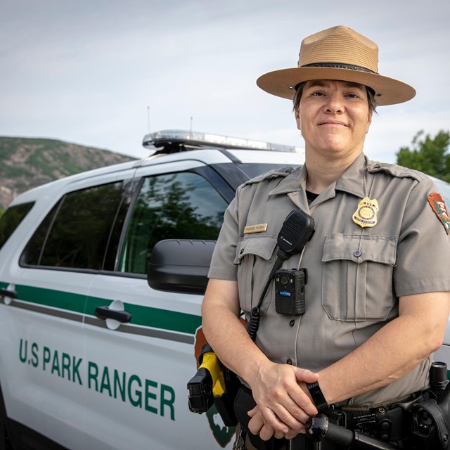
[[[450,236],[428,202],[435,192],[432,181],[422,179],[406,202],[394,267],[397,297],[450,291]]]

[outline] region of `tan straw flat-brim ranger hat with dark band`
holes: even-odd
[[[342,25],[303,39],[298,67],[266,73],[257,85],[269,94],[292,99],[296,86],[312,79],[364,84],[375,91],[377,105],[402,103],[416,95],[409,84],[378,74],[377,44]]]

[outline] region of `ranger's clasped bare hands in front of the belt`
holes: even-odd
[[[304,433],[307,419],[317,414],[306,383],[318,379],[319,374],[288,364],[269,362],[260,367],[249,383],[257,403],[248,411],[250,432],[265,441],[272,436],[293,439]]]

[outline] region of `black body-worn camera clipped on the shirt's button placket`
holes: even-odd
[[[275,272],[275,310],[278,314],[301,316],[305,311],[304,285],[307,269]]]

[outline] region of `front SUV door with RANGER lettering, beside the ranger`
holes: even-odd
[[[87,401],[104,442],[96,449],[219,449],[234,430],[188,411],[202,296],[153,290],[146,274],[159,240],[215,240],[234,192],[193,160],[141,167],[135,179],[115,271],[96,274],[89,288]]]

